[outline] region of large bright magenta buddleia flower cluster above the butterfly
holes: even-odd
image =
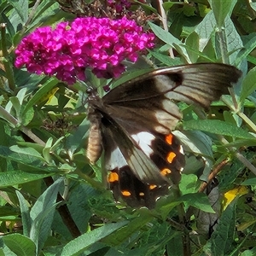
[[[143,32],[133,20],[77,18],[54,29],[39,27],[23,38],[15,50],[15,67],[56,76],[67,84],[85,80],[86,68],[98,78],[117,78],[125,71],[123,61],[135,62],[153,47],[154,34]]]

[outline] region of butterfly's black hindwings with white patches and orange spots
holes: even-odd
[[[157,198],[166,195],[170,184],[163,178],[160,179],[160,183],[156,182],[157,179],[149,183],[142,182],[131,168],[137,171],[148,170],[148,165],[154,165],[154,174],[171,177],[172,181],[178,183],[184,165],[184,156],[177,138],[172,133],[168,136],[139,134],[133,138],[136,145],[134,148],[140,148],[138,150],[142,151],[139,156],[141,159],[136,157],[137,154],[132,154],[133,161],[125,160],[120,148],[111,137],[108,136],[103,140],[106,148],[105,166],[110,171],[109,187],[117,201],[122,199],[131,207],[153,208]],[[140,141],[142,138],[144,140]],[[142,160],[148,163],[143,163]]]

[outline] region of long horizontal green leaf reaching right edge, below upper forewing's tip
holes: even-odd
[[[191,120],[183,122],[184,130],[200,130],[207,131],[218,135],[240,137],[240,138],[251,138],[254,139],[253,135],[243,130],[241,127],[226,123],[221,120]]]

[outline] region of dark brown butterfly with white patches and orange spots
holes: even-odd
[[[90,88],[87,158],[95,163],[104,151],[115,200],[153,208],[171,184],[178,184],[185,160],[172,134],[182,119],[175,102],[208,108],[240,76],[236,67],[201,63],[154,70],[102,98]]]

